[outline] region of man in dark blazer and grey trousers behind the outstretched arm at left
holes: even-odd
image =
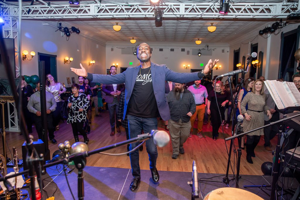
[[[117,67],[110,67],[110,74],[117,74]],[[103,84],[102,91],[106,94],[105,102],[108,106],[108,111],[110,112],[110,127],[111,133],[110,136],[115,135],[115,124],[117,127],[117,132],[121,133],[120,125],[121,123],[117,120],[118,106],[120,101],[120,94],[125,90],[124,84]]]

